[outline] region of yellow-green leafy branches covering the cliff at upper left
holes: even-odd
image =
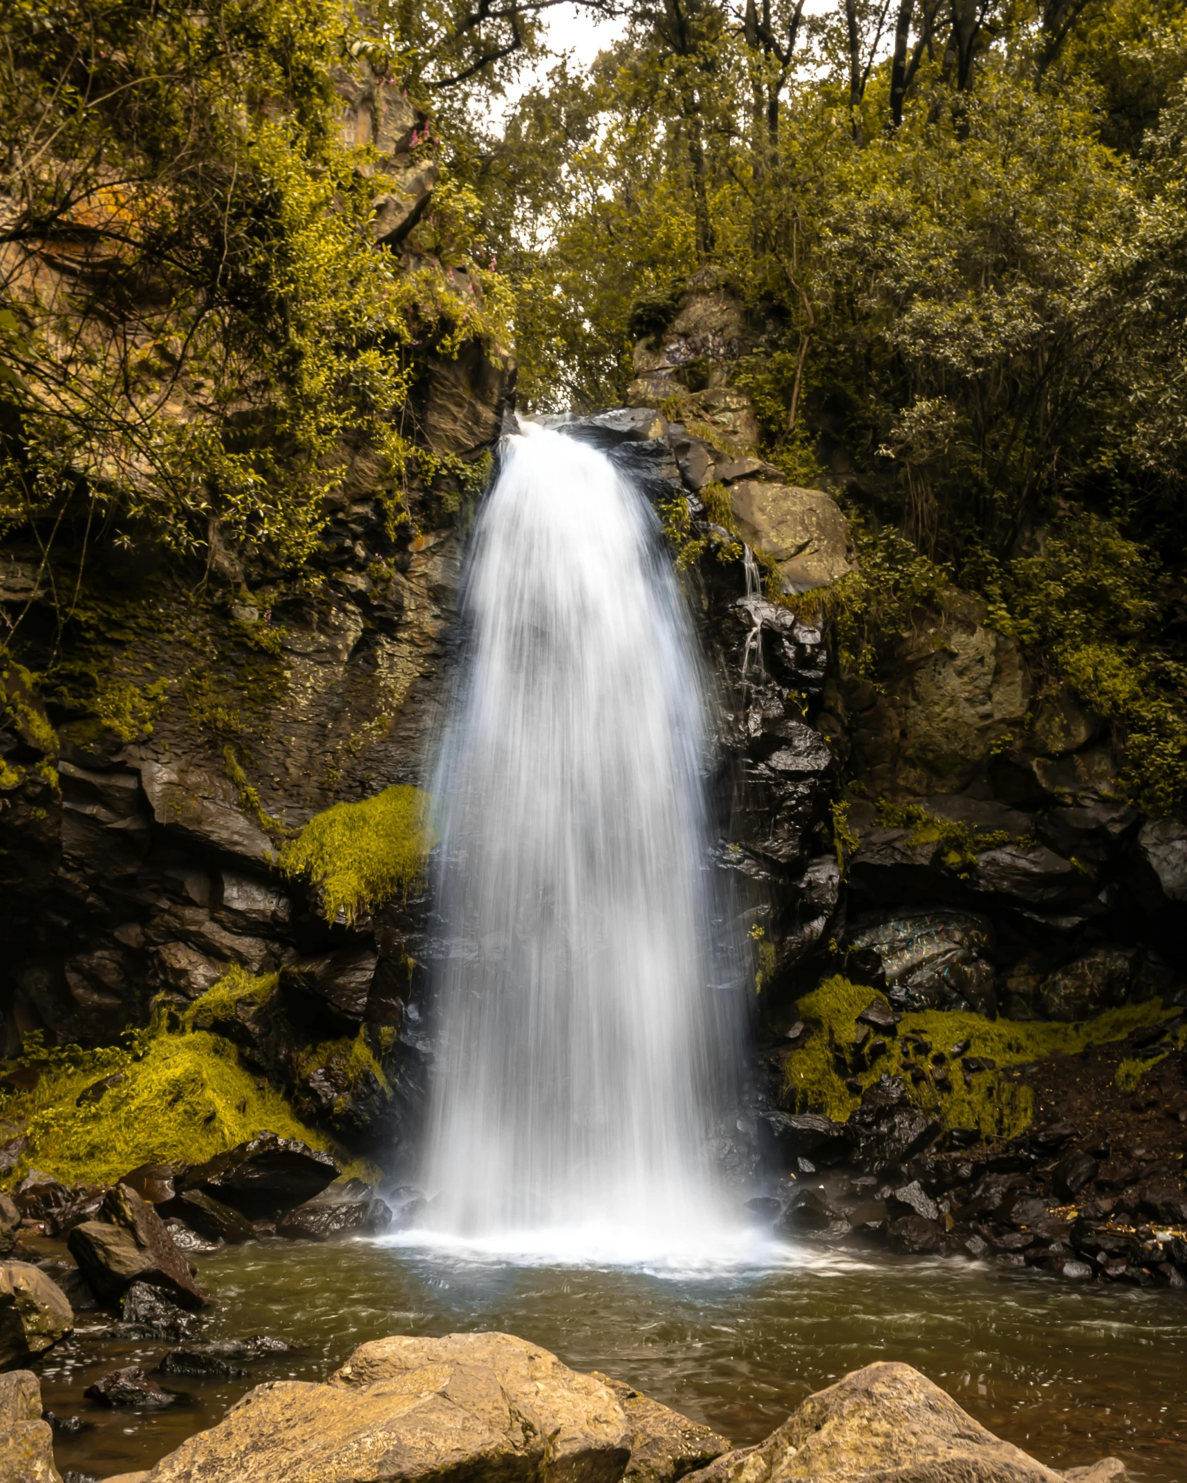
[[[464,187],[442,187],[436,258],[372,246],[399,187],[340,139],[334,77],[369,46],[350,7],[16,0],[0,42],[0,523],[53,532],[82,494],[117,543],[199,552],[214,516],[295,568],[361,443],[404,518],[417,347],[496,325],[447,271]]]

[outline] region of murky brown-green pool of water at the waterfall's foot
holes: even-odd
[[[1114,1453],[1142,1483],[1187,1479],[1181,1293],[758,1243],[733,1265],[700,1269],[662,1252],[650,1269],[552,1265],[539,1250],[506,1256],[405,1237],[272,1241],[199,1258],[217,1298],[212,1338],[272,1333],[300,1352],[243,1381],[162,1376],[190,1398],[135,1413],[102,1412],[83,1388],[117,1364],[151,1370],[168,1345],[59,1345],[42,1366],[45,1403],[93,1425],[59,1437],[58,1467],[99,1477],[147,1468],[258,1381],[322,1379],[365,1339],[502,1329],[574,1369],[631,1381],[736,1443],[767,1436],[847,1370],[905,1360],[1052,1467]]]

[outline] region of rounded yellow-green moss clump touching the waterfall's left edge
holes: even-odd
[[[326,921],[355,921],[424,875],[432,845],[429,796],[418,787],[384,787],[359,804],[334,804],[280,851],[280,869],[320,887]]]

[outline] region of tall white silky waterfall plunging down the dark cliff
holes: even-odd
[[[463,624],[433,789],[433,1223],[703,1231],[740,1014],[711,716],[656,518],[604,454],[530,426],[506,440]]]

